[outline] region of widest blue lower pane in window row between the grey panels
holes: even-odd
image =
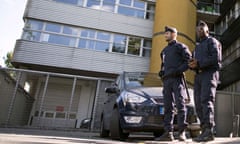
[[[55,35],[55,34],[43,34],[42,41],[52,43],[52,44],[60,44],[60,45],[74,47],[76,43],[76,38]]]

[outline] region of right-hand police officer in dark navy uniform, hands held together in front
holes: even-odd
[[[196,71],[194,101],[201,122],[202,133],[193,139],[197,142],[214,140],[214,102],[221,67],[221,44],[209,36],[208,26],[200,21],[197,27],[200,43],[193,52],[189,67]]]

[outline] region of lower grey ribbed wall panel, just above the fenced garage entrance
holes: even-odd
[[[149,58],[18,40],[13,62],[121,73],[148,71]]]

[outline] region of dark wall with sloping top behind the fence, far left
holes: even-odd
[[[27,125],[34,99],[20,85],[15,88],[16,81],[0,70],[0,125]]]

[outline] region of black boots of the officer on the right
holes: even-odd
[[[210,128],[205,128],[204,131],[198,137],[193,139],[193,141],[196,142],[207,142],[212,140],[214,140],[214,134]]]

